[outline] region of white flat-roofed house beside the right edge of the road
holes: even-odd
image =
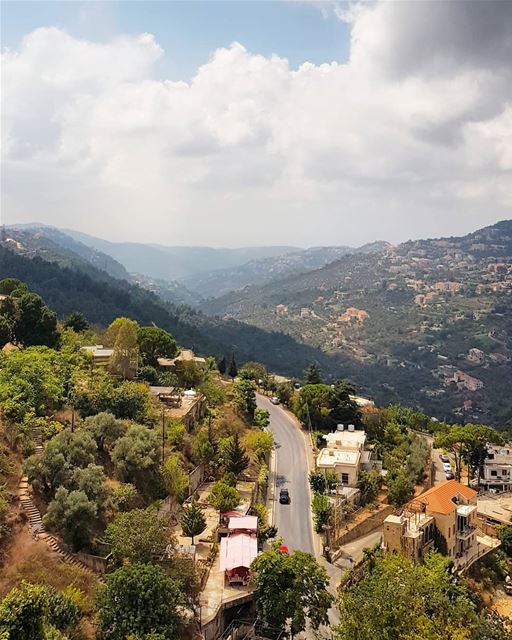
[[[324,436],[326,447],[316,459],[317,469],[334,472],[343,486],[356,487],[362,468],[369,468],[371,451],[365,449],[366,433],[354,425],[338,425],[337,431]]]

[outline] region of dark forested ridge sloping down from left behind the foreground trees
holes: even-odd
[[[105,271],[84,263],[43,259],[36,251],[10,237],[0,238],[0,279],[15,277],[39,293],[60,317],[81,311],[95,325],[106,326],[118,316],[170,331],[177,341],[204,355],[235,353],[237,362],[259,360],[276,373],[300,375],[312,360],[333,375],[340,361],[321,351],[297,343],[277,332],[266,332],[235,320],[208,318],[185,305],[165,303],[157,295],[127,280],[117,280]],[[34,241],[35,242],[35,241]]]

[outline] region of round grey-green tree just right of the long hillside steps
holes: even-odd
[[[82,549],[91,538],[98,507],[84,491],[69,492],[59,487],[43,518],[44,526],[58,532],[64,542]]]

